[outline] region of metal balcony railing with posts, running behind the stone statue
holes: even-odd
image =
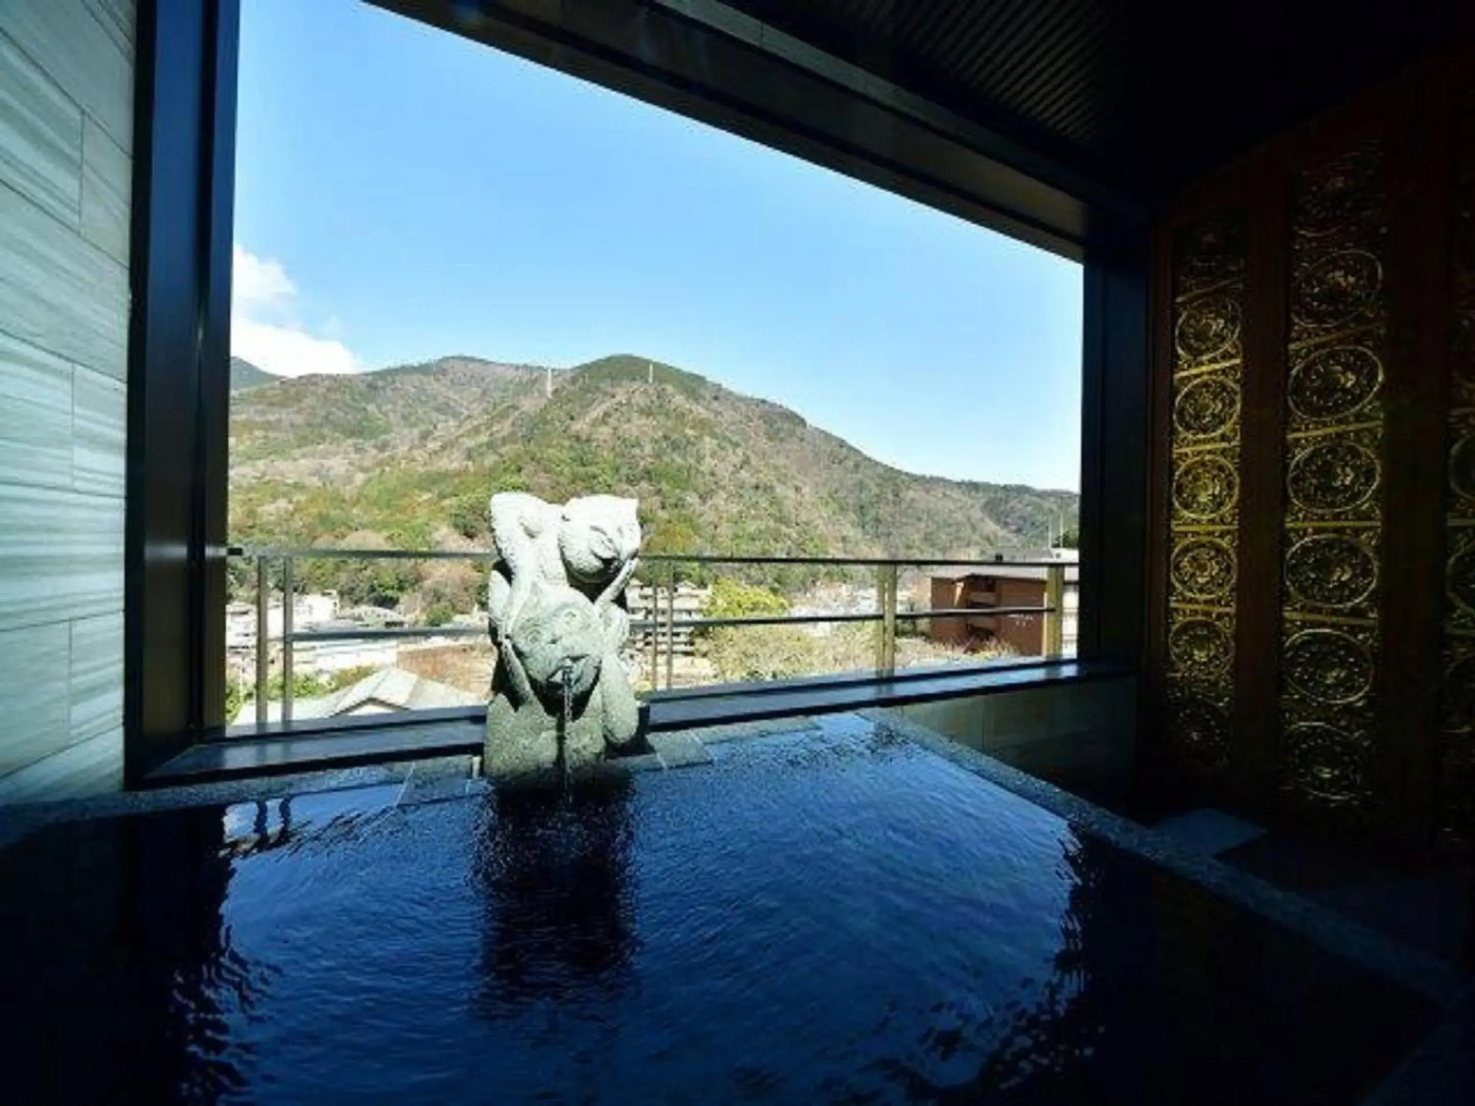
[[[294,608],[296,599],[296,565],[301,560],[463,560],[491,565],[490,550],[476,552],[445,552],[445,550],[410,550],[410,549],[274,549],[274,547],[243,547],[232,546],[229,556],[233,560],[251,562],[255,568],[255,721],[264,726],[267,715],[267,693],[270,684],[270,661],[273,641],[282,646],[282,721],[292,721],[292,690],[294,690],[294,650],[298,644],[316,641],[372,641],[381,639],[429,639],[429,637],[463,637],[469,640],[488,640],[488,630],[484,625],[416,625],[416,627],[353,627],[345,630],[296,630],[294,627]],[[634,618],[630,628],[642,634],[649,641],[650,649],[650,684],[659,686],[658,674],[664,659],[665,686],[673,686],[673,667],[677,653],[676,637],[678,630],[714,630],[720,627],[749,627],[749,625],[817,625],[826,622],[875,622],[878,624],[875,669],[878,675],[886,675],[897,667],[897,625],[907,621],[926,619],[976,619],[999,616],[1040,616],[1043,619],[1043,649],[1041,656],[1055,659],[1062,655],[1063,643],[1063,609],[1065,609],[1065,571],[1071,562],[1062,560],[1010,560],[1004,557],[991,559],[948,559],[948,557],[819,557],[819,556],[780,556],[780,554],[715,554],[715,553],[650,553],[642,554],[643,566],[664,571],[652,571],[643,588],[648,590],[648,618]],[[271,637],[267,633],[271,600],[271,566],[280,566],[282,593],[282,633]],[[678,565],[794,565],[794,566],[830,566],[830,568],[872,568],[876,580],[878,608],[875,611],[833,611],[826,613],[805,615],[748,615],[740,618],[677,618],[676,596],[680,581],[677,580]],[[903,568],[976,568],[979,575],[987,575],[990,568],[1034,568],[1044,569],[1044,602],[1038,606],[963,606],[963,608],[928,608],[903,611],[898,605],[897,585]],[[661,596],[665,596],[665,616],[661,616]],[[661,649],[662,636],[665,649]],[[664,656],[662,656],[664,653]]]

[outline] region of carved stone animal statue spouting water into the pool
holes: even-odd
[[[558,779],[634,740],[640,708],[620,650],[639,563],[636,506],[617,495],[491,497],[488,777]]]

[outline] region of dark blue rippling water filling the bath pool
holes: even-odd
[[[18,1100],[1356,1102],[1429,1010],[857,720],[0,854]],[[16,1100],[16,1099],[12,1099]]]

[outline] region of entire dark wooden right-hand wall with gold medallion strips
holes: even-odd
[[[1171,783],[1403,844],[1475,845],[1472,60],[1267,143],[1158,230]]]

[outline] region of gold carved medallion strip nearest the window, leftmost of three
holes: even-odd
[[[1199,771],[1230,761],[1245,220],[1226,212],[1173,243],[1167,731]]]

